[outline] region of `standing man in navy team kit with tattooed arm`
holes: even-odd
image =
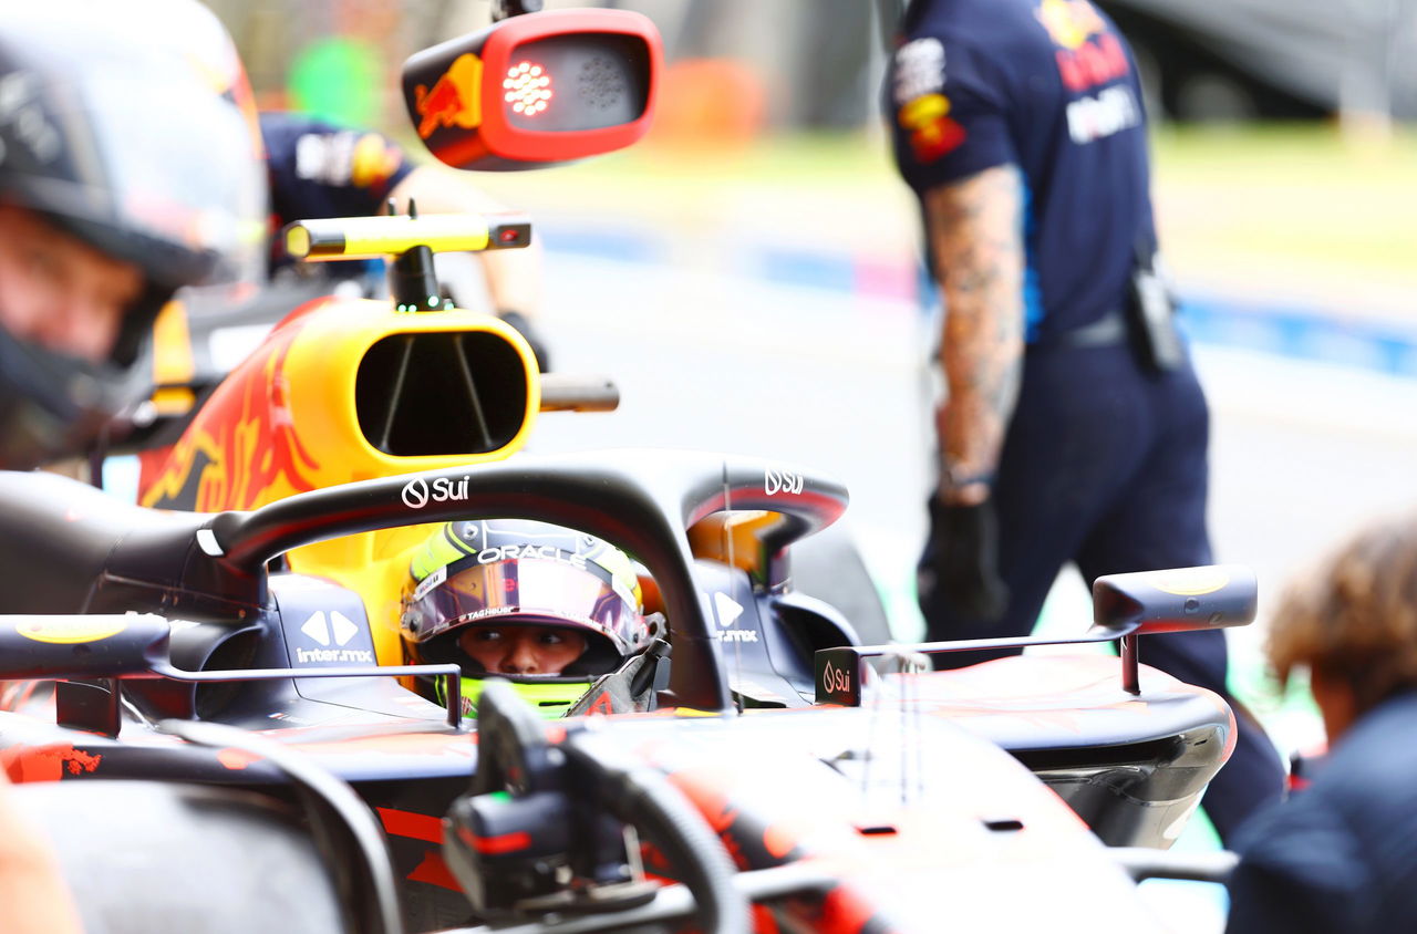
[[[927,636],[1026,635],[1066,563],[1088,584],[1209,564],[1209,410],[1155,268],[1125,40],[1087,0],[914,0],[886,95],[945,308]],[[1144,660],[1237,710],[1204,797],[1226,840],[1284,767],[1226,690],[1224,634],[1156,636]]]

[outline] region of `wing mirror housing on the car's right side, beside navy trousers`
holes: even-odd
[[[1093,583],[1098,629],[1136,635],[1243,626],[1254,621],[1258,587],[1241,564],[1108,574]]]

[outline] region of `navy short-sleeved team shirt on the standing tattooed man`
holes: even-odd
[[[1155,245],[1142,94],[1087,0],[915,0],[886,82],[901,176],[918,193],[1016,164],[1030,342],[1118,309]]]

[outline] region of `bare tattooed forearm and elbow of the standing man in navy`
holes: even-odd
[[[1016,166],[996,166],[925,193],[925,225],[945,296],[939,361],[949,395],[935,414],[939,497],[988,499],[1023,368],[1023,194]]]

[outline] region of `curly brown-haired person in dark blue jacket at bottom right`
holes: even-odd
[[[1280,680],[1309,672],[1329,754],[1234,842],[1227,930],[1417,931],[1417,516],[1298,578],[1270,626]]]

